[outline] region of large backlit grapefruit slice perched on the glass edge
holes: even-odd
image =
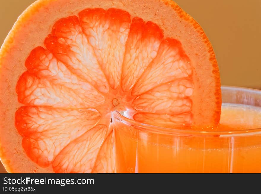
[[[219,122],[211,44],[170,0],[36,1],[0,57],[8,172],[117,172],[113,111],[167,127]]]

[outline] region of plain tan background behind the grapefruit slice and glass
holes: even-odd
[[[0,45],[35,0],[0,0]],[[148,0],[149,1],[149,0]],[[222,85],[261,89],[261,0],[176,0],[203,27],[216,53]],[[0,172],[5,172],[0,166]]]

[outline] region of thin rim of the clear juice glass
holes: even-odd
[[[252,89],[252,88],[245,88],[245,87],[238,87],[238,86],[228,86],[222,85],[221,89],[234,89],[241,91],[249,91],[254,93],[260,93],[261,90]],[[195,131],[195,130],[184,130],[184,129],[175,129],[175,128],[168,128],[168,127],[159,127],[154,125],[148,125],[144,123],[140,123],[138,121],[134,121],[129,119],[118,111],[114,111],[112,113],[113,117],[120,120],[122,123],[127,123],[128,125],[139,127],[139,129],[143,129],[147,132],[154,132],[160,134],[168,134],[168,135],[182,135],[182,136],[218,136],[218,137],[235,137],[235,136],[252,136],[252,135],[261,135],[261,126],[260,128],[254,129],[244,129],[244,130],[230,130],[230,131]]]

